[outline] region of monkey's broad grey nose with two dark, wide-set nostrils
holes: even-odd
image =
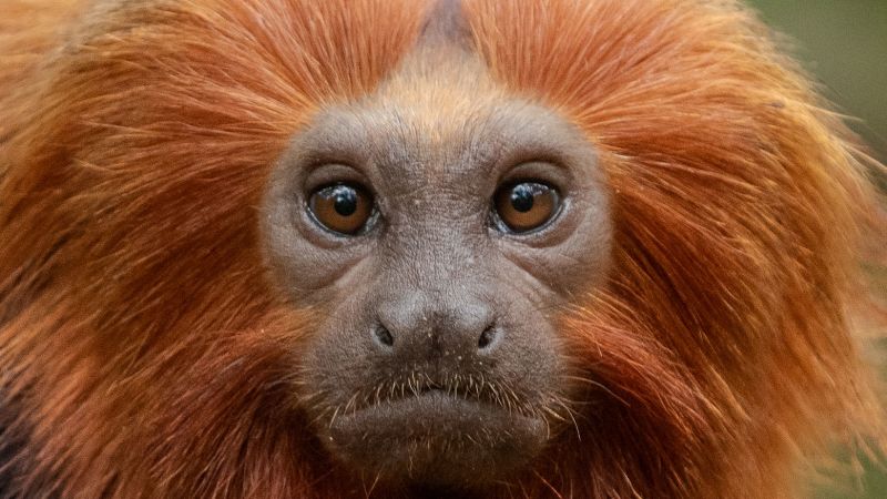
[[[492,350],[500,336],[492,306],[468,294],[406,294],[383,303],[377,316],[377,349],[400,360],[470,357]]]

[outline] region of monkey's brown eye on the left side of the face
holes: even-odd
[[[328,185],[312,193],[308,211],[325,228],[355,235],[373,215],[373,196],[359,185]]]

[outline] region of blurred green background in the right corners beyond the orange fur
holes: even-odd
[[[887,0],[747,0],[776,31],[852,128],[887,163]],[[881,175],[880,185],[887,187]],[[864,459],[864,462],[865,459]],[[865,465],[861,479],[835,479],[816,498],[885,499],[887,470]]]

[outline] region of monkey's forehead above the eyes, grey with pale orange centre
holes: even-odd
[[[405,187],[558,161],[587,143],[550,109],[507,96],[466,53],[419,53],[370,95],[322,111],[297,146]]]

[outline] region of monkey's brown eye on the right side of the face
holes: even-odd
[[[541,227],[558,214],[558,191],[539,182],[507,184],[495,196],[496,215],[508,231],[520,234]]]

